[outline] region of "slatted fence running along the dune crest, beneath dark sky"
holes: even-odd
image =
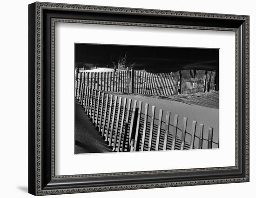
[[[168,96],[215,90],[216,72],[181,70],[174,73],[149,73],[134,70],[85,70],[77,75],[76,86],[81,86],[81,82],[97,90]]]

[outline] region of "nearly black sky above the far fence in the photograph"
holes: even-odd
[[[101,44],[75,44],[75,65],[78,67],[116,66],[127,53],[127,65],[135,70],[166,72],[180,69],[219,70],[219,49],[161,46],[125,46]]]

